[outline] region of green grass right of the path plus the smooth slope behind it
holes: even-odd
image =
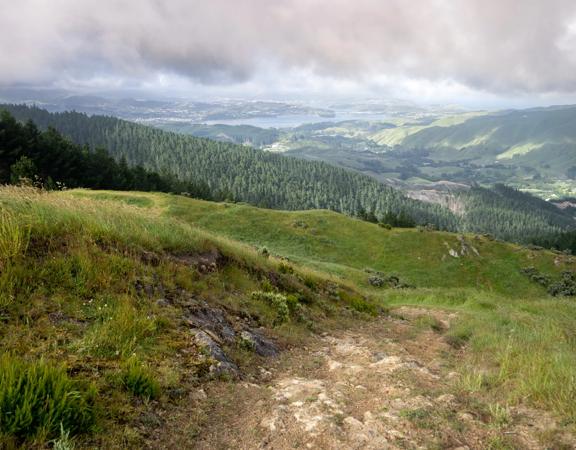
[[[74,193],[68,195],[75,195]],[[86,193],[90,195],[90,193]],[[552,276],[574,269],[570,258],[549,251],[467,236],[481,257],[446,258],[446,244],[458,248],[455,235],[383,230],[329,211],[283,212],[247,205],[217,204],[150,194],[163,217],[196,229],[209,229],[292,264],[332,274],[360,286],[382,305],[424,305],[460,312],[446,333],[456,349],[466,348],[462,362],[471,390],[528,401],[576,420],[574,353],[576,302],[552,299],[521,273],[526,266]],[[303,225],[305,224],[305,226]],[[395,273],[418,289],[378,290],[367,284],[365,267]],[[422,288],[426,286],[427,288]],[[344,303],[364,312],[373,303],[341,295]],[[437,323],[422,324],[432,329]],[[466,371],[466,367],[473,368]],[[480,375],[479,375],[480,374]]]

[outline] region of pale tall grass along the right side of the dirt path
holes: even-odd
[[[441,289],[385,298],[458,312],[446,340],[467,350],[459,387],[490,391],[512,404],[528,402],[576,423],[576,300]]]

